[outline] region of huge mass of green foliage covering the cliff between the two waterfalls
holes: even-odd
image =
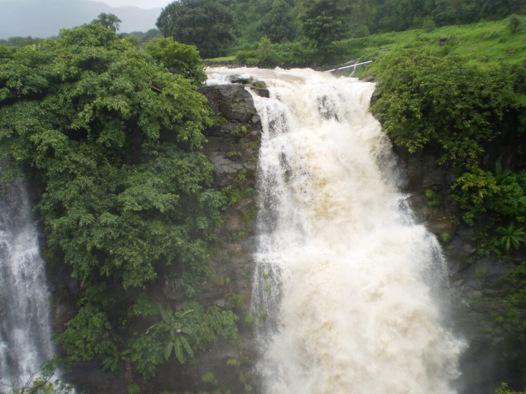
[[[193,294],[209,273],[208,242],[226,199],[209,187],[213,165],[199,151],[212,123],[196,91],[199,60],[171,39],[139,51],[100,23],[35,46],[0,46],[2,181],[21,170],[42,185],[47,254],[80,282],[78,312],[57,337],[69,361],[113,357],[117,369],[130,358],[153,376],[171,331],[131,338],[129,324],[145,314],[116,310],[115,296],[167,272]],[[237,317],[217,307],[189,304],[184,319],[174,316],[175,329],[180,320],[193,331],[189,347],[177,342],[190,357],[190,347],[236,335]]]

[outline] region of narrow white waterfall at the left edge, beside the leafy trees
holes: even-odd
[[[0,191],[0,381],[35,373],[53,356],[49,294],[22,182]],[[0,386],[0,392],[5,387]]]

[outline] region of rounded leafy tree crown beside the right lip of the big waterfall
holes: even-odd
[[[410,152],[436,143],[440,163],[477,167],[482,144],[498,136],[504,113],[517,106],[507,74],[466,66],[463,59],[399,51],[382,64],[375,110],[383,128]]]

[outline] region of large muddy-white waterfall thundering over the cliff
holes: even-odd
[[[397,191],[368,112],[373,84],[312,70],[209,69],[264,80],[252,309],[269,394],[451,394],[462,344],[436,297],[436,239]],[[264,329],[261,329],[264,328]]]

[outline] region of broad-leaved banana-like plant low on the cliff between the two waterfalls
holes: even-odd
[[[168,333],[169,338],[165,347],[165,359],[170,358],[171,352],[174,351],[175,357],[181,364],[185,364],[185,352],[190,357],[194,357],[194,349],[190,346],[191,337],[194,335],[193,330],[184,323],[185,315],[194,312],[193,309],[185,312],[173,312],[170,309],[164,309],[159,305],[159,311],[163,319],[149,327],[146,334],[151,329],[159,333]]]

